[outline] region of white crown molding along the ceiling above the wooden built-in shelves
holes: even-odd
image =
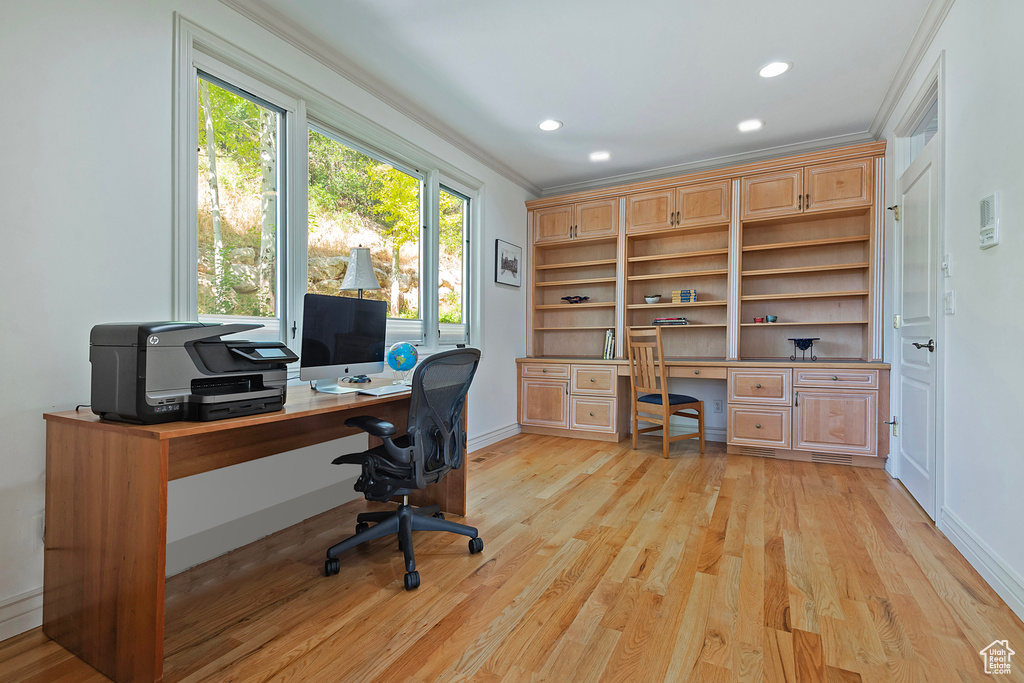
[[[545,188],[541,198],[555,197],[558,195],[571,195],[591,189],[603,189],[605,187],[633,184],[636,182],[643,182],[645,180],[660,180],[663,178],[671,178],[677,175],[687,175],[698,171],[710,171],[717,168],[752,164],[761,161],[778,159],[781,157],[795,157],[797,155],[821,152],[833,147],[860,144],[862,142],[874,142],[878,138],[872,136],[867,131],[861,133],[851,133],[848,135],[836,135],[834,137],[821,137],[816,140],[807,140],[806,142],[797,142],[795,144],[781,144],[774,147],[755,150],[754,152],[743,152],[741,154],[726,155],[724,157],[701,159],[698,161],[687,162],[685,164],[677,164],[675,166],[663,166],[662,168],[650,169],[648,171],[623,173],[621,175],[612,175],[606,178],[599,178],[597,180],[586,180],[584,182],[556,185],[554,187]]]

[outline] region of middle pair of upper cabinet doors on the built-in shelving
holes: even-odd
[[[630,195],[626,231],[647,232],[729,221],[729,181]]]

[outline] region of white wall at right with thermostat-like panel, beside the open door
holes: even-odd
[[[891,159],[893,129],[944,50],[944,243],[953,263],[946,290],[955,290],[956,310],[941,323],[945,483],[937,522],[1024,616],[1024,441],[1017,424],[1024,415],[1022,27],[1019,0],[957,0],[885,136]],[[992,190],[1000,194],[1001,241],[982,251],[978,202]]]

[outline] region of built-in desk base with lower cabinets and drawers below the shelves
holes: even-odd
[[[625,358],[517,358],[526,433],[617,441],[630,430]],[[668,358],[670,378],[726,383],[729,453],[884,467],[889,365]],[[684,390],[685,392],[685,390]]]

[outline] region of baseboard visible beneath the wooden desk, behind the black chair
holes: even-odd
[[[355,477],[167,544],[168,577],[298,524],[359,497]]]

